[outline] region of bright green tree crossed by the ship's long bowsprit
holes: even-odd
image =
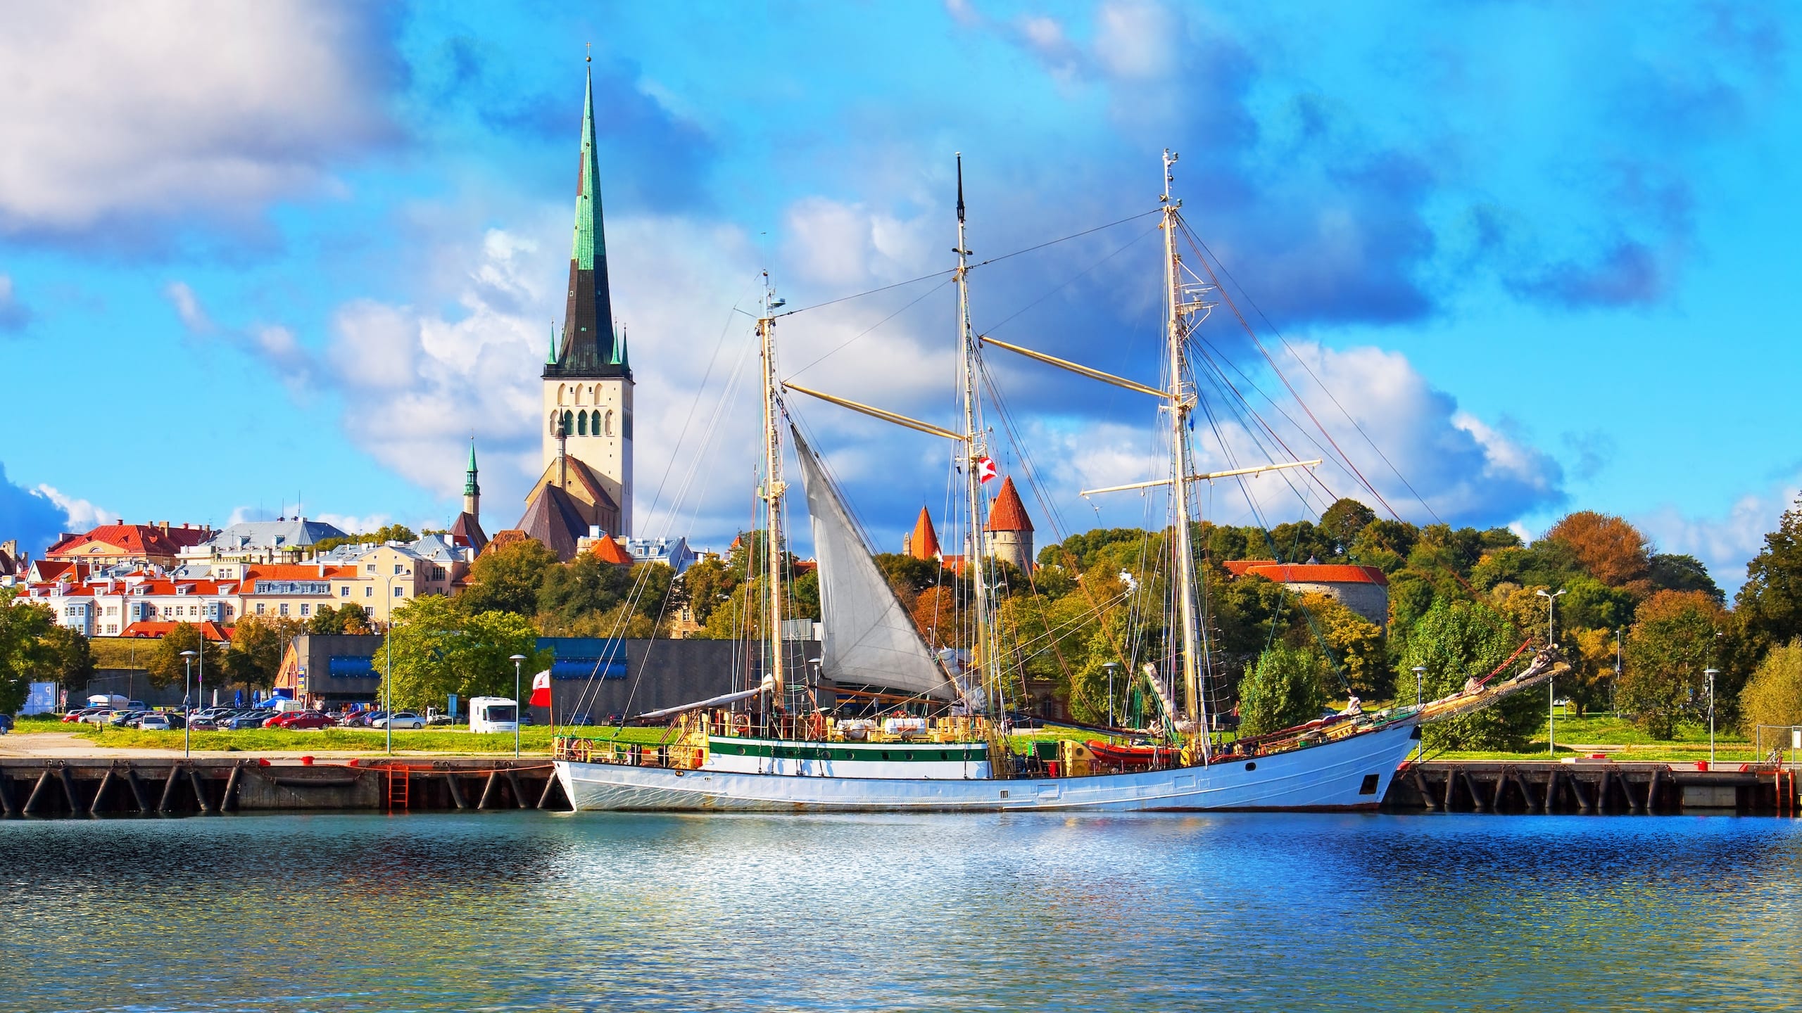
[[[1467,680],[1488,676],[1515,647],[1519,640],[1499,611],[1483,602],[1440,598],[1409,631],[1398,669],[1406,674],[1416,665],[1425,669],[1425,699],[1436,699],[1458,692]],[[1476,714],[1427,725],[1424,746],[1429,752],[1519,750],[1541,719],[1539,698],[1514,694]]]

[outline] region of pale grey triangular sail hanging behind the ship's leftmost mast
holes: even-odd
[[[888,579],[876,568],[851,512],[800,431],[795,431],[795,456],[800,458],[802,483],[807,487],[813,552],[820,557],[825,674],[840,685],[951,699],[957,690],[901,607]]]

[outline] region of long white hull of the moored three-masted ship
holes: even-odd
[[[1096,777],[874,779],[580,761],[557,761],[557,777],[577,811],[1375,809],[1415,748],[1415,728],[1397,721],[1254,761]]]

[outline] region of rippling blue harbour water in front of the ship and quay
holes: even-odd
[[[1802,990],[1802,826],[0,824],[0,1009],[1692,1009]]]

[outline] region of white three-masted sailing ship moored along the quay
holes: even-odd
[[[1177,233],[1180,202],[1171,195],[1175,155],[1164,153],[1164,386],[1141,386],[1099,370],[980,337],[969,324],[969,249],[964,229],[962,160],[957,173],[957,348],[962,429],[950,431],[847,398],[784,384],[777,370],[777,306],[766,285],[757,319],[762,359],[764,519],[760,579],[766,651],[759,685],[638,716],[669,719],[658,744],[607,737],[559,737],[555,770],[578,811],[1006,811],[1006,809],[1375,809],[1400,762],[1416,748],[1424,719],[1467,714],[1519,692],[1566,665],[1548,649],[1517,676],[1490,685],[1472,680],[1433,703],[1344,712],[1254,739],[1216,744],[1204,692],[1207,643],[1198,611],[1191,546],[1191,487],[1197,481],[1258,474],[1319,461],[1283,461],[1229,472],[1193,470],[1189,413],[1198,404],[1186,380],[1189,333],[1204,315],[1204,287],[1186,274]],[[997,631],[991,546],[984,516],[989,460],[978,398],[978,353],[997,344],[1090,379],[1126,386],[1159,400],[1168,427],[1168,476],[1087,490],[1168,487],[1169,566],[1175,640],[1164,671],[1146,663],[1135,678],[1159,701],[1159,719],[1139,743],[1031,741],[1016,748],[1007,710],[1004,649]],[[800,429],[784,425],[784,391],[804,393],[953,442],[969,570],[969,665],[933,651],[914,624],[852,519],[842,490]],[[833,687],[888,701],[874,714],[842,716],[836,694],[807,678],[780,640],[786,553],[782,503],[784,429],[800,461],[820,573],[822,656],[818,676]],[[1490,676],[1494,678],[1492,672]],[[1180,703],[1177,687],[1180,685]],[[1108,732],[1121,732],[1110,728]],[[1119,735],[1108,735],[1110,739]]]

